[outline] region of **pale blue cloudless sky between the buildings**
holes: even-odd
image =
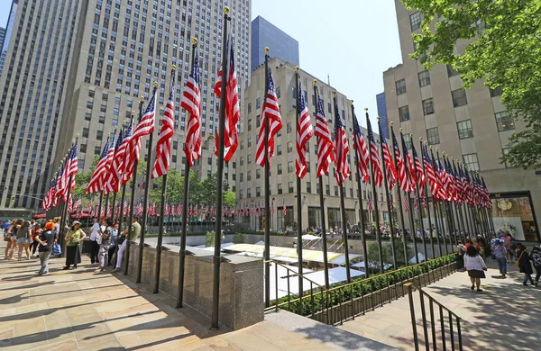
[[[0,26],[9,9],[0,6]],[[383,71],[401,62],[393,0],[252,0],[252,19],[258,15],[298,40],[302,69],[324,81],[328,74],[357,111],[369,108],[375,123]]]

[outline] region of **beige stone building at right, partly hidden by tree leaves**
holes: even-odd
[[[471,170],[481,171],[492,198],[495,229],[505,229],[518,240],[538,241],[541,222],[541,178],[536,170],[500,163],[509,137],[525,126],[500,103],[501,90],[478,81],[464,90],[452,67],[437,65],[427,71],[408,58],[414,51],[412,33],[420,33],[421,14],[395,0],[403,63],[383,73],[389,121],[423,137]],[[459,42],[463,51],[467,43]]]

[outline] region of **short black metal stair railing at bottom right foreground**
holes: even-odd
[[[463,340],[462,340],[462,330],[460,328],[461,318],[458,317],[456,313],[446,308],[443,304],[441,304],[440,302],[437,302],[432,296],[430,296],[428,293],[423,291],[420,287],[417,287],[412,283],[404,284],[404,286],[408,289],[409,311],[411,312],[411,326],[413,327],[413,342],[414,342],[416,351],[418,351],[419,349],[419,338],[417,335],[417,319],[415,317],[415,304],[413,302],[413,288],[417,289],[417,291],[419,292],[419,302],[421,305],[421,320],[422,320],[423,336],[425,338],[426,351],[429,351],[431,349],[436,350],[437,348],[442,348],[446,350],[448,347],[446,343],[446,334],[449,335],[449,345],[451,346],[451,349],[454,351],[455,349],[455,340],[454,340],[455,331],[453,329],[454,324],[456,325],[458,349],[462,351]],[[428,310],[430,311],[430,326],[428,326],[428,321],[426,318],[425,299],[428,299]],[[439,334],[436,332],[437,316],[435,317],[435,311],[434,311],[435,304],[436,304],[436,309],[439,310],[439,329],[440,329]],[[445,323],[446,319],[448,320],[447,323]],[[428,338],[428,329],[430,329],[431,331],[432,340]],[[439,336],[441,336],[441,338],[438,338]]]

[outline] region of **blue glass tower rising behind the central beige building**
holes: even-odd
[[[271,56],[298,66],[298,41],[277,26],[257,16],[252,21],[252,68],[265,61],[265,47],[271,48]]]

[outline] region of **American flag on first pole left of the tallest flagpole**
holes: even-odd
[[[188,133],[184,144],[184,154],[189,166],[194,166],[197,158],[201,157],[201,91],[199,82],[199,53],[194,52],[194,64],[188,77],[188,82],[182,94],[180,107],[188,112]]]

